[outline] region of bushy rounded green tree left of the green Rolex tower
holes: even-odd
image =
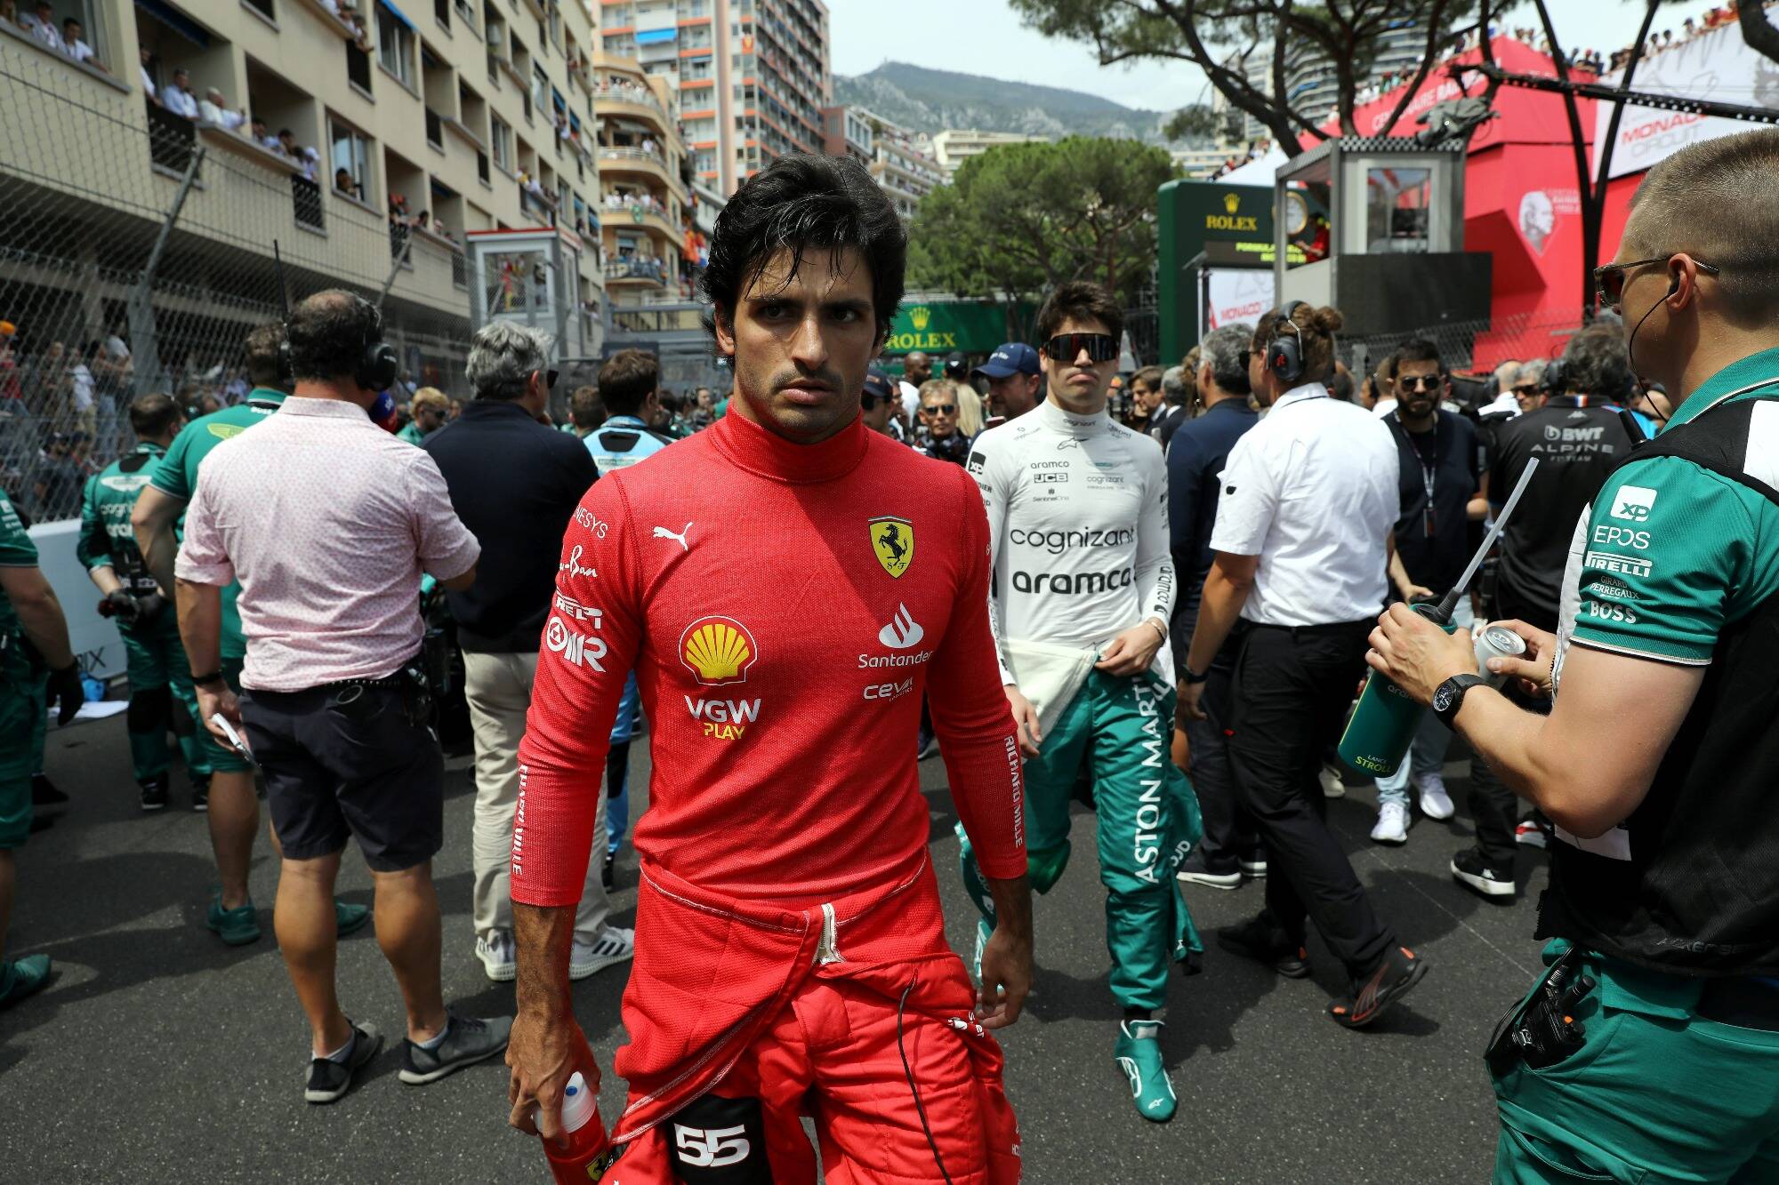
[[[1163,149],[1139,141],[991,148],[920,199],[909,278],[1009,302],[1094,279],[1130,299],[1155,267],[1155,190],[1176,176]]]

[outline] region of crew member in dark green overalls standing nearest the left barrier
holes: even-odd
[[[101,607],[123,635],[130,671],[130,763],[142,788],[142,810],[158,811],[167,804],[167,726],[173,724],[192,779],[192,810],[201,811],[210,801],[210,758],[197,738],[203,730],[192,671],[180,646],[180,621],[173,603],[155,587],[130,528],[137,495],[185,427],[185,416],[171,395],[137,395],[130,402],[130,427],[137,447],[87,479],[75,553],[105,594]],[[185,708],[183,719],[173,713],[173,696]]]

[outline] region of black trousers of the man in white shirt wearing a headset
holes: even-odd
[[[1359,979],[1395,941],[1327,827],[1318,772],[1364,673],[1373,623],[1254,626],[1235,667],[1229,765],[1267,845],[1267,911],[1302,943],[1315,922]]]

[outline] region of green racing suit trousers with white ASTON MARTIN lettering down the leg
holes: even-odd
[[[1192,783],[1169,760],[1172,728],[1174,690],[1153,674],[1091,671],[1025,763],[1026,868],[1039,893],[1069,863],[1069,799],[1083,776],[1092,781],[1112,996],[1128,1009],[1162,1007],[1169,961],[1204,950],[1174,888],[1203,826]],[[993,923],[993,900],[962,840],[964,884]]]

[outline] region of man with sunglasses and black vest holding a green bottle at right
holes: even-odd
[[[1638,185],[1599,295],[1678,402],[1576,523],[1555,633],[1469,639],[1402,609],[1373,667],[1557,824],[1551,971],[1491,1048],[1498,1181],[1779,1176],[1779,130]],[[1553,982],[1560,980],[1560,982]]]

